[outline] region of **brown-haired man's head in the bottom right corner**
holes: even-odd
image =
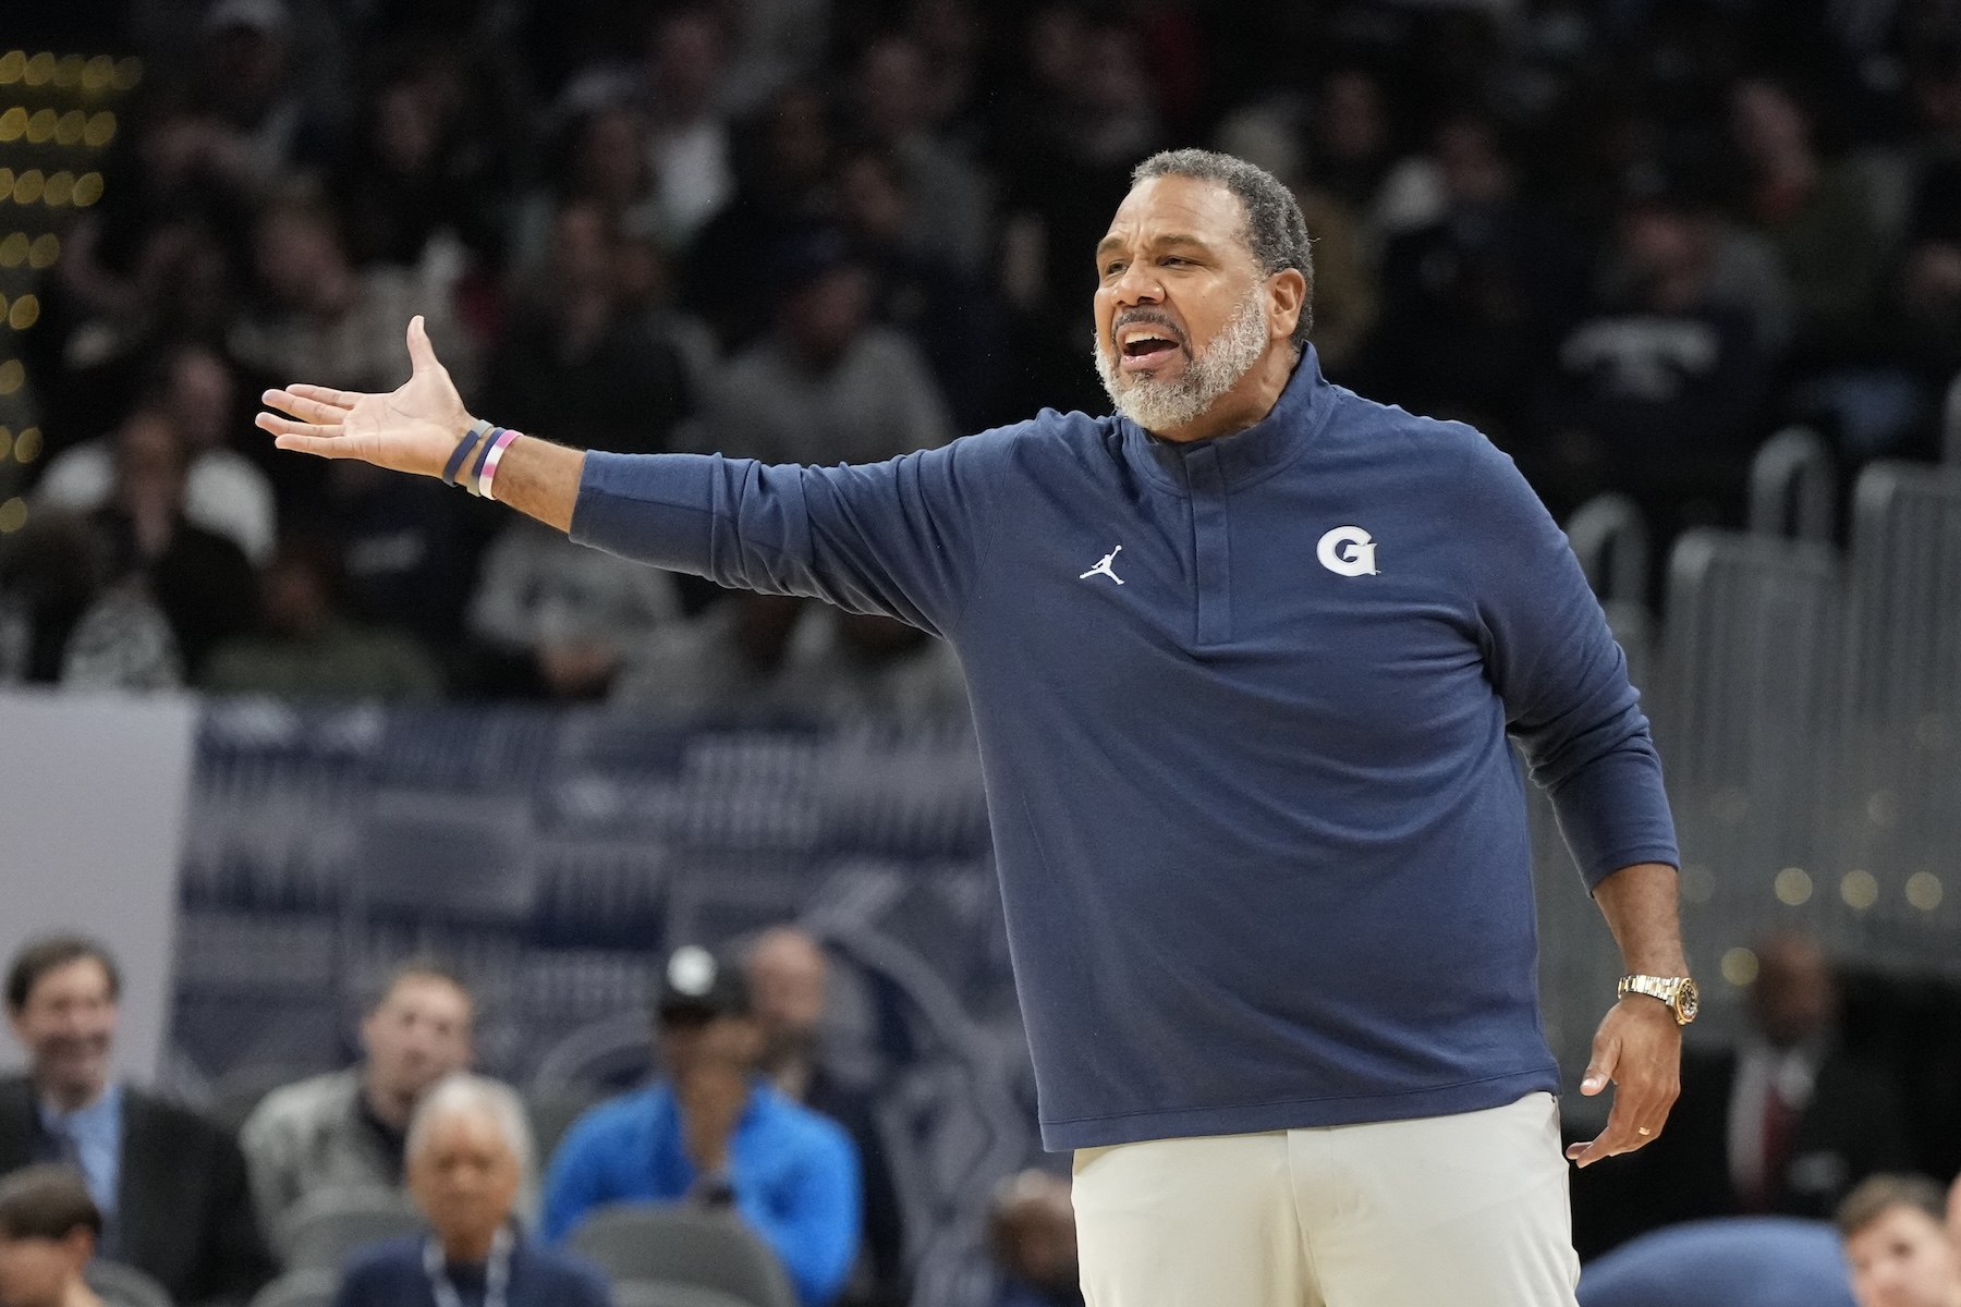
[[[1941,1187],[1926,1176],[1869,1176],[1837,1209],[1859,1307],[1961,1307],[1961,1252]]]

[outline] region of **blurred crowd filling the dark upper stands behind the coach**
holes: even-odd
[[[1620,490],[1663,541],[1735,521],[1792,421],[1847,468],[1926,453],[1961,368],[1949,0],[16,22],[147,73],[16,333],[39,441],[25,521],[0,521],[0,682],[957,707],[957,666],[910,629],[280,455],[255,398],[398,384],[422,314],[473,411],[590,449],[877,460],[1102,411],[1088,255],[1167,145],[1284,178],[1328,374],[1477,423],[1559,515]]]

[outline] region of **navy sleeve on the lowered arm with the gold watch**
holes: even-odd
[[[1484,662],[1532,778],[1586,886],[1635,862],[1677,864],[1661,758],[1565,535],[1512,460],[1479,439],[1463,480]]]

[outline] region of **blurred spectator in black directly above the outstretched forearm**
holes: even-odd
[[[484,410],[582,449],[669,449],[694,396],[659,319],[626,300],[622,239],[592,202],[559,210],[551,266],[514,315],[484,376]]]

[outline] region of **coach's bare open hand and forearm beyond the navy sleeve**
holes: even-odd
[[[463,408],[449,370],[437,363],[422,317],[408,323],[414,374],[390,394],[326,386],[267,390],[265,404],[288,413],[259,413],[280,449],[322,459],[361,459],[396,472],[441,476],[475,417]],[[551,441],[520,435],[496,472],[496,498],[520,513],[569,531],[586,457]]]

